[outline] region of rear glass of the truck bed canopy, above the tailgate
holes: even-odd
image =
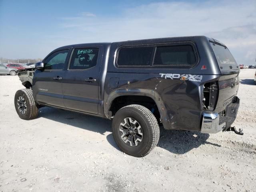
[[[215,54],[216,60],[218,62],[218,66],[220,71],[228,71],[228,70],[237,70],[239,69],[236,63],[236,60],[228,50],[228,48],[210,42],[212,46],[212,50]]]

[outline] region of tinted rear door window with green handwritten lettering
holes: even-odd
[[[75,49],[70,61],[70,70],[85,70],[96,66],[98,60],[98,48]]]

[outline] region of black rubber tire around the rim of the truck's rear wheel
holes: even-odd
[[[121,126],[120,124],[125,122],[125,118],[133,118],[142,128],[142,140],[137,146],[130,146],[131,143],[125,143],[121,136],[122,132],[119,130]],[[112,122],[112,131],[114,140],[120,149],[125,153],[136,157],[143,157],[149,154],[158,144],[160,136],[160,129],[155,116],[146,107],[136,104],[125,106],[116,112]]]

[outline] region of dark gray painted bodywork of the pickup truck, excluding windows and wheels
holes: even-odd
[[[200,131],[204,84],[219,80],[230,83],[239,73],[239,70],[220,72],[209,41],[214,42],[214,39],[205,36],[191,36],[64,46],[50,53],[64,49],[69,50],[64,69],[49,72],[36,70],[33,79],[33,96],[36,102],[42,105],[65,108],[103,118],[111,118],[110,106],[118,96],[148,96],[156,102],[165,129]],[[194,46],[198,62],[192,68],[118,68],[115,64],[117,51],[122,46],[182,42],[190,42]],[[100,59],[98,61],[100,63],[97,63],[96,70],[89,73],[79,72],[72,78],[77,81],[77,79],[82,80],[92,76],[96,79],[95,85],[93,85],[94,83],[79,82],[80,86],[77,86],[77,83],[72,82],[72,78],[67,75],[73,49],[82,47],[99,48]],[[202,70],[203,65],[207,67],[204,70]],[[58,75],[63,77],[62,80],[56,81],[51,78],[51,76]],[[39,88],[44,88],[42,85],[46,86],[47,92],[39,90]],[[70,92],[66,91],[69,86],[73,86]],[[223,100],[237,94],[238,85],[235,85],[232,90],[230,89],[227,87],[226,90],[222,89],[220,92],[222,98],[219,98],[217,102],[218,111],[222,111],[226,107],[221,103]],[[78,92],[80,95],[77,94]]]

